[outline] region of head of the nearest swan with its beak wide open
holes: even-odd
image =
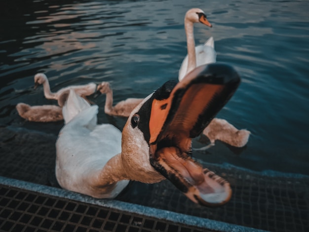
[[[239,85],[234,69],[223,64],[197,67],[181,82],[168,81],[129,116],[122,131],[122,159],[132,180],[170,180],[191,200],[221,205],[230,184],[192,157],[197,137]]]

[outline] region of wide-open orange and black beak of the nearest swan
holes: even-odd
[[[149,103],[150,162],[196,203],[216,206],[231,198],[230,184],[203,168],[190,154],[192,138],[223,108],[239,83],[240,77],[232,67],[204,65],[170,91],[156,94],[158,89]]]

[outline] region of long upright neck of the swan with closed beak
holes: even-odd
[[[195,41],[193,34],[193,22],[191,22],[187,18],[185,18],[185,31],[186,31],[187,49],[188,49],[187,73],[189,73],[196,67],[196,57],[195,57]]]

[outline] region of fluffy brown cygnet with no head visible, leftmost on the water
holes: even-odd
[[[54,105],[30,106],[25,103],[18,103],[16,110],[19,116],[36,122],[49,122],[63,120],[62,109]]]

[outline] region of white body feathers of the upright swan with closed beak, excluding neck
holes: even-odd
[[[214,38],[210,37],[204,44],[195,47],[196,67],[216,63],[217,52],[215,50]],[[188,55],[183,60],[178,73],[178,80],[181,81],[188,72]]]

